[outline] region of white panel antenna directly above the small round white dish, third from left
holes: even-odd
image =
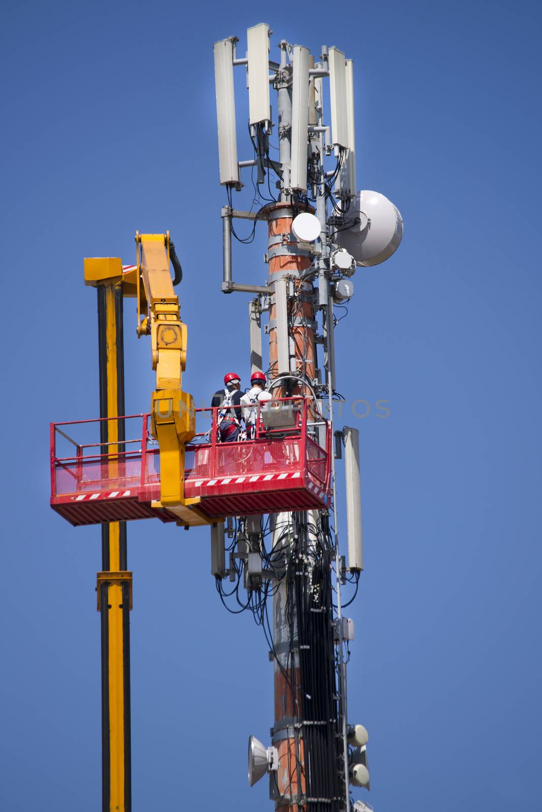
[[[307,188],[307,140],[309,136],[310,52],[303,45],[293,46],[292,79],[292,155],[290,187],[298,192]]]

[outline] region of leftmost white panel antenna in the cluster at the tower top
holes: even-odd
[[[220,183],[238,186],[235,97],[233,93],[234,39],[215,42],[216,120],[219,131]]]

